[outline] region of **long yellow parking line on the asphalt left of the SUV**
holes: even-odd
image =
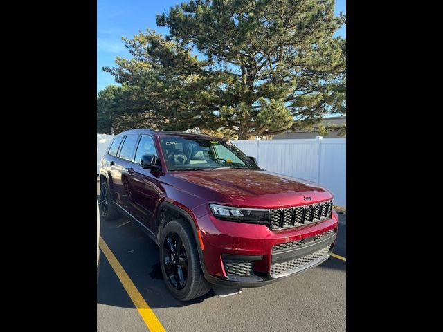
[[[136,306],[138,310],[138,313],[140,313],[141,317],[145,321],[147,328],[151,332],[166,332],[165,328],[161,325],[161,322],[159,322],[157,317],[154,315],[150,306],[147,305],[145,299],[143,299],[143,296],[141,296],[141,294],[138,292],[138,289],[132,282],[131,278],[129,278],[129,275],[127,275],[127,273],[123,269],[123,266],[118,263],[118,260],[111,252],[111,249],[109,249],[102,237],[100,237],[99,244],[100,249],[105,254],[105,257],[109,261],[109,264],[111,264],[111,267],[116,273],[118,279],[120,279],[123,287],[125,287],[127,294],[129,295],[129,297],[131,297],[134,306]]]

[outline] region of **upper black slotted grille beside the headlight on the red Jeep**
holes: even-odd
[[[316,223],[329,218],[332,213],[332,200],[292,208],[271,209],[271,228],[291,228]]]

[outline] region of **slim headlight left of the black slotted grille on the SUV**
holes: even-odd
[[[269,223],[269,209],[235,208],[218,204],[209,204],[209,208],[218,219],[242,223]]]

